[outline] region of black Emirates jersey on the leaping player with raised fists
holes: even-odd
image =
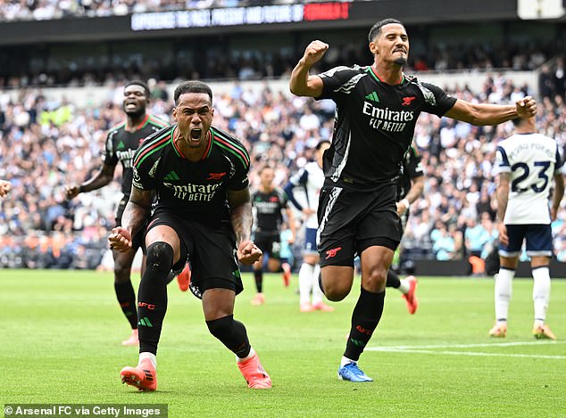
[[[354,190],[397,182],[420,112],[440,117],[456,102],[414,77],[390,86],[371,67],[337,67],[319,77],[317,99],[337,103],[332,145],[324,154],[326,183]]]

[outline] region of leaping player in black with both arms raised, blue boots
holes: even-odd
[[[372,65],[340,66],[309,75],[329,49],[324,42],[312,41],[289,83],[294,94],[337,103],[332,145],[324,155],[317,245],[322,290],[330,300],[345,299],[351,291],[354,256],[358,253],[361,258],[361,292],[338,367],[338,377],[346,381],[372,380],[358,360],[379,324],[387,270],[401,241],[396,184],[420,112],[497,125],[537,111],[530,97],[515,106],[471,103],[406,76],[409,37],[399,20],[376,23],[369,42]]]

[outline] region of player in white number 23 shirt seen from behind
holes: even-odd
[[[564,195],[562,160],[553,138],[537,134],[535,118],[513,119],[515,134],[497,146],[497,217],[499,219],[499,274],[495,276],[495,325],[492,337],[505,337],[512,279],[523,241],[533,275],[537,339],[555,340],[546,320],[550,300],[548,266],[553,255],[551,222]],[[554,178],[552,205],[548,198]]]

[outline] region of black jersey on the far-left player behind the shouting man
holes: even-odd
[[[137,126],[134,132],[126,130],[127,123],[122,122],[117,127],[112,127],[106,136],[106,150],[104,152],[104,164],[115,166],[118,161],[122,165],[121,191],[129,196],[132,181],[132,165],[131,160],[137,147],[147,136],[153,135],[163,127],[169,124],[162,119],[155,118],[152,115],[146,115]]]

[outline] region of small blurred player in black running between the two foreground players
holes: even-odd
[[[287,214],[287,225],[293,236],[289,244],[295,242],[295,218],[293,211],[289,208],[287,195],[273,184],[274,172],[270,166],[260,169],[260,185],[258,190],[252,194],[252,205],[255,209],[254,242],[263,256],[254,263],[255,288],[257,293],[252,299],[252,305],[265,303],[263,294],[263,263],[267,258],[267,268],[271,272],[283,268],[283,282],[286,286],[291,280],[291,266],[288,263],[281,265],[279,250],[281,249],[281,223],[283,222],[282,210]]]

